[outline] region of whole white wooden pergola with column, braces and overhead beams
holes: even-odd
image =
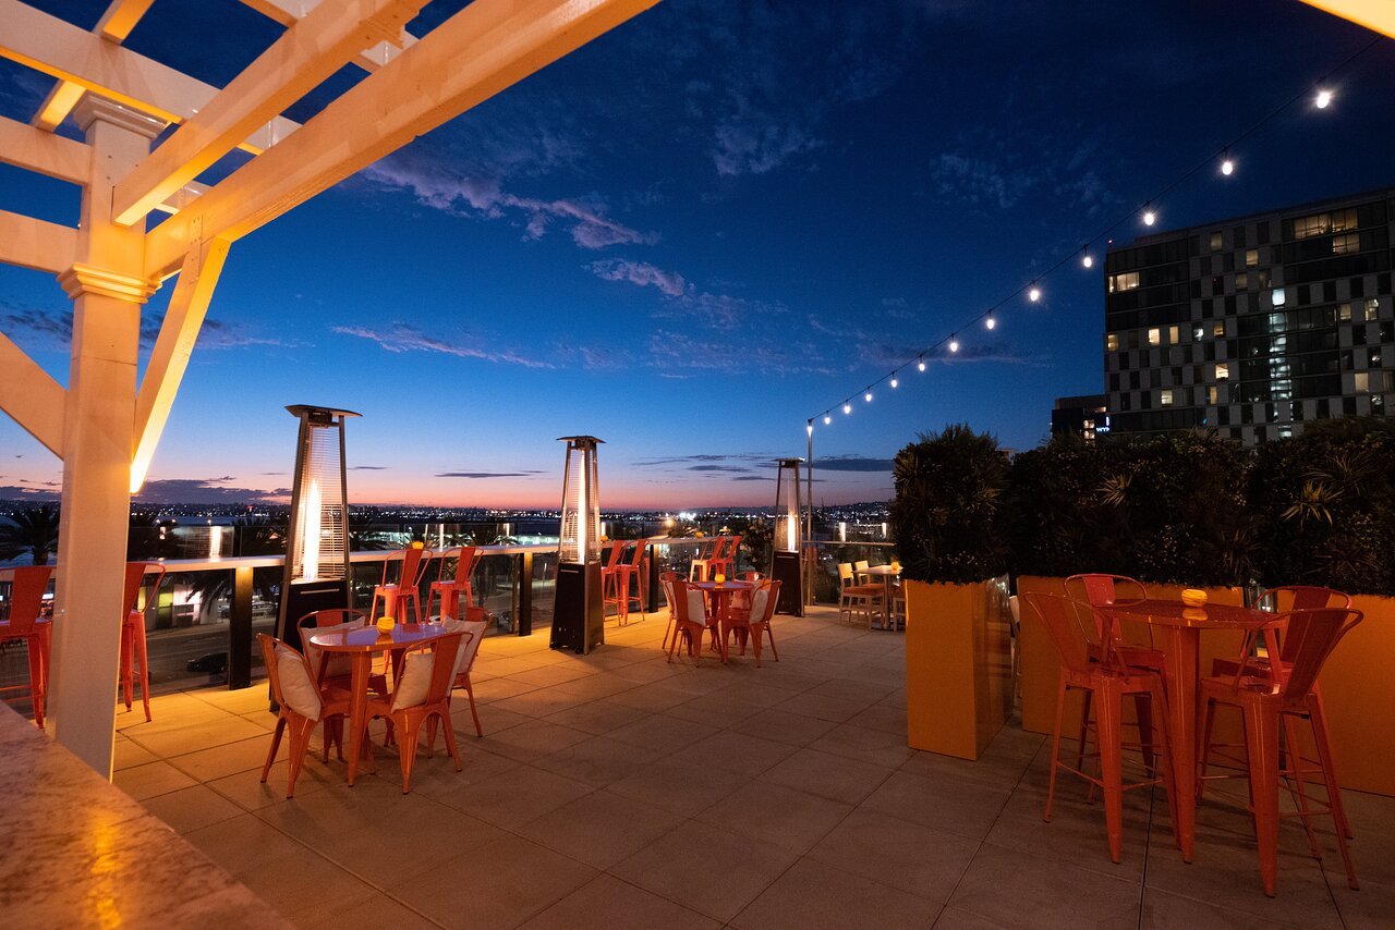
[[[241,1],[286,31],[215,88],[121,46],[153,0],[112,0],[91,32],[0,0],[0,56],[56,78],[31,124],[0,119],[0,160],[82,187],[75,229],[0,211],[0,261],[73,300],[67,388],[0,335],[0,409],[63,462],[47,717],[107,777],[130,496],[229,247],[658,0],[473,0],[420,38],[430,0]],[[370,74],[304,125],[280,116],[349,63]],[[84,141],[54,134],[68,117]],[[199,184],[234,148],[255,158]],[[138,385],[141,307],[173,276]]]

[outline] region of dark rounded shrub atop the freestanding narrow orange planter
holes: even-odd
[[[921,434],[897,453],[891,477],[903,577],[965,584],[1006,570],[999,512],[1007,460],[993,436],[964,425]]]

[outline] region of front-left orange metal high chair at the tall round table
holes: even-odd
[[[1161,760],[1156,765],[1145,761],[1149,778],[1130,785],[1123,784],[1123,736],[1120,732],[1120,718],[1123,717],[1123,699],[1140,696],[1152,701],[1159,717],[1166,717],[1166,699],[1163,697],[1162,676],[1156,672],[1131,668],[1110,648],[1109,640],[1098,639],[1098,629],[1091,618],[1081,613],[1094,613],[1088,605],[1077,605],[1060,594],[1027,594],[1024,595],[1032,612],[1041,619],[1042,626],[1050,636],[1052,644],[1060,658],[1059,686],[1056,692],[1056,728],[1052,732],[1050,749],[1050,779],[1046,786],[1046,810],[1042,820],[1050,820],[1052,799],[1056,793],[1056,770],[1063,768],[1080,775],[1094,786],[1103,789],[1105,795],[1105,831],[1109,837],[1109,857],[1119,862],[1123,851],[1123,792],[1131,788],[1162,784],[1168,792],[1168,806],[1175,807],[1172,778],[1169,768],[1169,754],[1166,733],[1159,729]],[[1094,655],[1102,655],[1103,661],[1095,661]],[[1095,742],[1099,749],[1099,777],[1091,775],[1077,764],[1074,768],[1060,761],[1060,726],[1066,708],[1066,693],[1070,689],[1084,690],[1087,694],[1098,694],[1095,701],[1098,726]],[[1152,738],[1144,732],[1147,742]],[[1159,775],[1159,772],[1162,772]],[[1176,823],[1176,810],[1173,821]]]

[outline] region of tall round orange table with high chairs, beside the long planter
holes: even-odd
[[[1176,839],[1183,862],[1191,862],[1197,845],[1197,706],[1201,680],[1201,634],[1207,630],[1253,632],[1276,616],[1230,604],[1187,607],[1182,601],[1148,598],[1101,604],[1096,611],[1115,618],[1143,620],[1158,627],[1165,657],[1162,680],[1168,693],[1168,745],[1176,785]]]

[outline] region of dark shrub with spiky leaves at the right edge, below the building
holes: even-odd
[[[1395,424],[1310,424],[1261,446],[1249,502],[1265,584],[1395,597]]]

